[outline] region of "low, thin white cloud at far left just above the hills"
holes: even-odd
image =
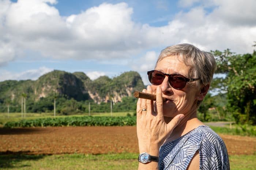
[[[40,76],[53,71],[52,68],[40,67],[39,69],[27,70],[23,72],[0,71],[0,82],[4,80],[37,80]]]

